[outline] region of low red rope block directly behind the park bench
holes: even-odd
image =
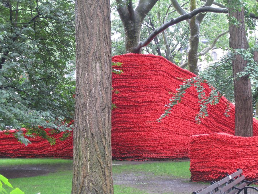
[[[237,168],[247,180],[258,179],[258,137],[226,133],[193,135],[189,158],[192,181],[220,180]]]

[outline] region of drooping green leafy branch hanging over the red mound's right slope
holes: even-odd
[[[176,89],[176,93],[173,94],[173,97],[169,99],[170,103],[166,104],[165,107],[168,107],[165,112],[160,116],[160,118],[157,119],[158,122],[161,122],[161,119],[163,119],[166,116],[169,116],[171,113],[171,110],[174,105],[177,105],[181,102],[182,98],[184,97],[186,90],[190,87],[195,87],[196,91],[198,93],[198,103],[199,103],[199,112],[195,117],[196,123],[201,123],[201,118],[205,118],[208,116],[208,105],[216,105],[219,103],[220,98],[223,95],[223,88],[226,86],[226,82],[224,84],[218,85],[217,89],[215,89],[207,80],[211,80],[211,82],[215,83],[217,80],[214,78],[216,73],[214,73],[214,70],[216,71],[217,68],[220,68],[223,65],[226,64],[226,70],[231,70],[232,72],[232,66],[231,66],[231,60],[236,55],[241,55],[244,60],[247,61],[247,66],[243,69],[242,72],[239,72],[234,78],[230,79],[230,81],[233,82],[233,79],[236,79],[241,76],[249,76],[251,80],[253,80],[253,83],[258,82],[258,65],[257,62],[253,59],[253,53],[255,51],[258,51],[258,46],[254,46],[250,49],[235,49],[231,50],[227,55],[225,55],[222,60],[218,63],[212,64],[210,67],[208,67],[208,70],[201,72],[200,76],[192,77],[190,79],[184,80],[183,83],[179,86],[178,89]],[[221,69],[220,69],[221,70]],[[222,68],[224,71],[225,69]],[[222,72],[220,72],[222,74]],[[210,88],[210,93],[206,95],[206,89],[204,87],[204,84],[207,84]],[[228,83],[227,83],[228,84]],[[257,84],[255,84],[257,85]],[[222,92],[221,92],[222,91]],[[227,107],[225,110],[224,115],[229,116],[230,112],[230,101],[227,102]]]

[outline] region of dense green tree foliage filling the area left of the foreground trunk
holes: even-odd
[[[39,125],[73,119],[74,2],[1,1],[0,13],[0,130],[26,127],[46,137]]]

